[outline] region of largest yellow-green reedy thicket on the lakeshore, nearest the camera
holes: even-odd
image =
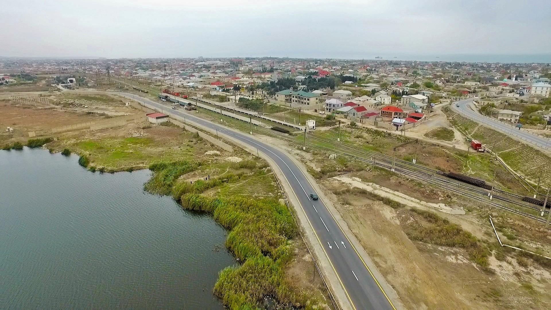
[[[277,296],[280,302],[295,296],[285,281],[284,265],[292,258],[288,240],[296,227],[287,207],[276,200],[242,197],[210,198],[199,194],[181,197],[183,207],[211,213],[230,230],[226,247],[240,261],[239,267],[220,272],[214,292],[230,309],[256,309],[263,296]]]

